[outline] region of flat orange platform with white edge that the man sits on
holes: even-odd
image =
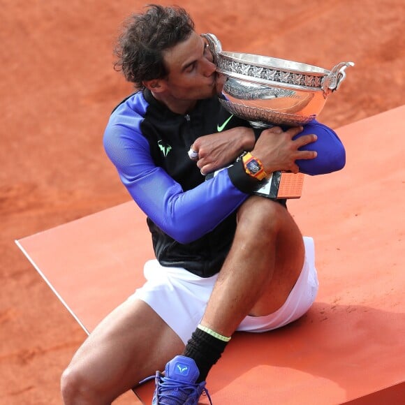
[[[405,105],[339,128],[346,168],[306,177],[290,200],[316,243],[318,297],[281,330],[235,334],[207,380],[214,405],[405,404],[404,117]],[[153,256],[134,202],[17,244],[87,332]],[[146,404],[151,392],[137,390]]]

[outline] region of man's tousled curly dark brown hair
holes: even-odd
[[[194,22],[184,8],[149,4],[145,13],[131,15],[117,39],[116,71],[142,88],[144,80],[165,78],[163,51],[189,38]]]

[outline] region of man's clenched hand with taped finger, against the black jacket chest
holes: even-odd
[[[204,175],[233,163],[242,152],[253,149],[253,130],[244,126],[197,138],[191,149],[198,153],[197,166]]]

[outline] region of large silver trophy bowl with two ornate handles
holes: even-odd
[[[202,37],[219,73],[219,101],[256,128],[307,124],[346,78],[345,69],[354,66],[353,62],[341,62],[328,71],[295,61],[226,52],[214,34]]]

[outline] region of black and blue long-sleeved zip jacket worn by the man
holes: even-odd
[[[200,277],[219,272],[236,228],[236,210],[257,187],[242,163],[205,181],[187,152],[202,135],[249,126],[227,112],[213,97],[198,101],[188,115],[178,115],[139,91],[112,112],[104,147],[121,182],[147,215],[156,258],[161,265],[184,267]],[[297,162],[311,175],[344,166],[344,147],[327,126],[313,121],[304,126],[318,140],[308,149],[318,156]]]

